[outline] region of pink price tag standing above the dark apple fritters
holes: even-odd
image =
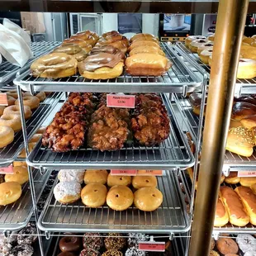
[[[107,94],[107,107],[135,108],[135,95]]]

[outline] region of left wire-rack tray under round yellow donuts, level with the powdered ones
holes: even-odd
[[[38,170],[33,171],[37,200],[45,187],[50,172],[40,175]],[[7,206],[0,206],[0,230],[20,230],[26,226],[33,213],[31,189],[29,182],[22,185],[21,197]]]

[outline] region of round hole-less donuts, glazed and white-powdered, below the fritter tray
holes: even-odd
[[[124,211],[133,203],[141,211],[154,211],[163,202],[154,176],[116,176],[107,170],[60,170],[54,188],[55,199],[69,204],[80,198],[85,206],[97,208],[107,202],[112,210]],[[81,183],[86,184],[81,187]],[[110,189],[107,192],[106,184]],[[129,188],[130,184],[136,190]]]

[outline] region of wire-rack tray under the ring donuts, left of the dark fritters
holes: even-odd
[[[51,92],[50,95],[45,98],[45,101],[41,102],[40,106],[33,112],[31,118],[26,121],[26,129],[29,139],[34,135],[43,121],[45,121],[50,111],[55,108],[62,95],[63,92]],[[12,164],[23,148],[24,141],[22,130],[20,130],[15,133],[14,140],[11,144],[0,149],[0,166]]]

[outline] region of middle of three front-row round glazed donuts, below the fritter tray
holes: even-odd
[[[116,211],[124,211],[133,203],[133,193],[129,187],[114,186],[107,193],[107,205]]]

